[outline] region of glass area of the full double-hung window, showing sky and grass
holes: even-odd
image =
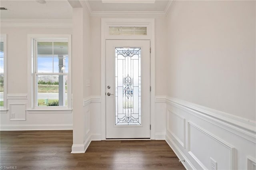
[[[37,106],[68,106],[68,42],[40,42],[35,60]]]

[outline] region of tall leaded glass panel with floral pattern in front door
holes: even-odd
[[[141,48],[115,49],[116,125],[141,125]]]

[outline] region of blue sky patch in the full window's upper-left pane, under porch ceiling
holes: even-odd
[[[37,57],[38,73],[52,73],[52,69],[53,69],[52,56]]]

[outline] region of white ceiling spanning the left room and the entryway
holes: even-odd
[[[0,11],[1,19],[72,19],[73,2],[77,0],[46,0],[40,4],[36,0],[0,0],[0,6],[8,10]],[[91,14],[112,12],[162,12],[165,13],[169,0],[80,0]],[[106,3],[107,2],[107,3]],[[76,3],[77,4],[77,3]],[[72,6],[71,6],[72,5]],[[118,13],[119,12],[119,13]]]

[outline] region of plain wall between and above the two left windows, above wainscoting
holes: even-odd
[[[1,34],[7,34],[7,93],[18,94],[28,91],[28,34],[72,34],[72,29],[1,27]]]

